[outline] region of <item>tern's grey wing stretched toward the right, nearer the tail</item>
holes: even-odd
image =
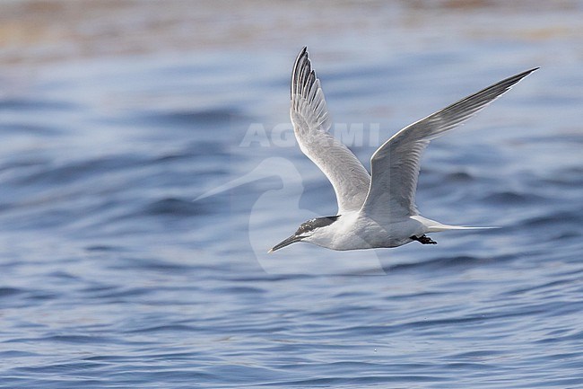
[[[421,155],[436,137],[456,128],[538,67],[513,75],[401,129],[370,158],[372,182],[362,211],[370,216],[418,215],[415,190]]]

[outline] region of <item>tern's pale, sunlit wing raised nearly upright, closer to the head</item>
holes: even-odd
[[[305,47],[293,66],[290,116],[301,151],[334,187],[338,214],[361,209],[370,187],[369,172],[348,147],[328,132],[331,123],[326,100]]]

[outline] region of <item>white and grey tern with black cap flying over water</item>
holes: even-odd
[[[308,49],[301,49],[292,70],[290,116],[301,151],[334,187],[338,212],[302,223],[269,252],[296,242],[342,251],[397,247],[413,241],[436,244],[427,234],[484,228],[444,225],[419,214],[415,191],[422,152],[432,139],[474,116],[536,69],[512,75],[401,129],[370,157],[369,174],[348,147],[328,132],[332,123],[324,93]]]

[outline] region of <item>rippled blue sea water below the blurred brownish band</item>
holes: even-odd
[[[461,31],[6,66],[0,387],[583,387],[580,45]],[[399,128],[542,66],[423,159],[424,216],[500,228],[266,254],[335,213],[290,137],[303,44],[367,167]]]

